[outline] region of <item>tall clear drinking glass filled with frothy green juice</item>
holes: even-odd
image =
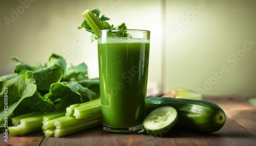
[[[104,131],[144,131],[142,123],[149,55],[150,31],[99,32],[98,62]]]

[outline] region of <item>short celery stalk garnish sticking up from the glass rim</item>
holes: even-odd
[[[86,10],[82,13],[83,18],[87,21],[88,25],[91,27],[93,32],[99,37],[99,31],[104,30],[105,28],[97,17],[91,12],[91,10]]]

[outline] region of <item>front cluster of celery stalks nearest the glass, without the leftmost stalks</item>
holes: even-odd
[[[42,130],[46,137],[65,136],[100,125],[101,117],[101,102],[100,99],[96,99],[67,107],[66,116],[50,120],[45,116]]]

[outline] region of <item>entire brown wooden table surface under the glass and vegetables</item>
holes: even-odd
[[[204,96],[226,113],[224,127],[211,134],[170,130],[163,137],[141,134],[111,134],[101,126],[64,137],[44,137],[41,131],[13,137],[0,134],[0,145],[256,145],[256,107],[239,96]]]

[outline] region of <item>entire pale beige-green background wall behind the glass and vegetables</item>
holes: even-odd
[[[96,41],[77,30],[97,6],[114,25],[151,31],[151,85],[256,95],[256,1],[0,0],[0,76],[14,68],[11,56],[33,65],[56,53],[98,77]]]

